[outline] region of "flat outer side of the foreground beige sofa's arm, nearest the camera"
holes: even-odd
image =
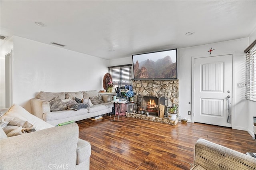
[[[0,139],[3,170],[76,169],[76,123]]]

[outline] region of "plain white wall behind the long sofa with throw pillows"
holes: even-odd
[[[103,88],[108,60],[17,36],[13,43],[13,101],[28,111],[31,111],[29,100],[40,91],[75,92]]]

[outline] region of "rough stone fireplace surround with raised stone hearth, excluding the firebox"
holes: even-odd
[[[154,97],[167,97],[168,103],[166,105],[172,106],[175,104],[179,107],[179,80],[132,80],[132,88],[134,91],[134,98],[137,102],[138,96],[154,96]],[[166,107],[165,107],[166,109]],[[177,109],[178,113],[178,109]],[[126,114],[127,115],[127,114]],[[129,117],[137,117],[138,115],[129,113]],[[139,116],[142,119],[142,116]],[[178,118],[178,117],[177,117]],[[151,121],[161,121],[164,123],[174,124],[173,122],[169,122],[163,119],[159,119],[159,117],[155,118],[145,118]],[[152,120],[153,119],[153,120]],[[177,121],[175,121],[176,124]]]

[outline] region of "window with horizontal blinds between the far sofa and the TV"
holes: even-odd
[[[108,67],[114,88],[132,85],[132,64]]]

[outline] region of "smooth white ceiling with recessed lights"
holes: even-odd
[[[255,0],[1,0],[0,6],[1,35],[104,59],[246,38],[256,28]]]

